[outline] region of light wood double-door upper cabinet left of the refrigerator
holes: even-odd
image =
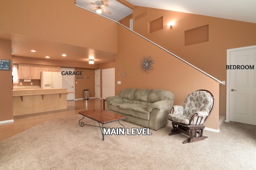
[[[31,64],[19,64],[19,79],[41,79],[41,66]]]

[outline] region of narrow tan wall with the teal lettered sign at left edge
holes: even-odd
[[[0,39],[0,59],[12,62],[11,51],[12,42]],[[0,82],[0,121],[12,120],[12,69],[0,70]]]

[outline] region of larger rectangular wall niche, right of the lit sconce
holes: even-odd
[[[185,46],[209,41],[209,25],[185,31]]]

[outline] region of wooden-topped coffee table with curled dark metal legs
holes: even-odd
[[[103,129],[105,128],[105,127],[103,127],[103,125],[107,124],[107,123],[114,122],[114,121],[118,121],[118,123],[120,123],[119,122],[120,120],[125,119],[125,116],[118,115],[116,113],[111,113],[111,112],[101,110],[101,109],[80,111],[79,114],[83,115],[84,117],[88,117],[92,120],[95,120],[99,123],[99,126],[94,126],[94,125],[88,125],[88,126],[100,127],[103,141],[104,141]],[[84,119],[84,117],[82,119]],[[81,127],[83,127],[84,125],[87,125],[87,124],[84,124],[82,119],[79,120],[79,125]],[[102,126],[100,126],[100,123],[102,124]],[[122,124],[120,123],[120,125],[122,125]],[[124,125],[122,125],[122,126],[124,127]],[[125,129],[125,127],[124,127],[124,129]]]

